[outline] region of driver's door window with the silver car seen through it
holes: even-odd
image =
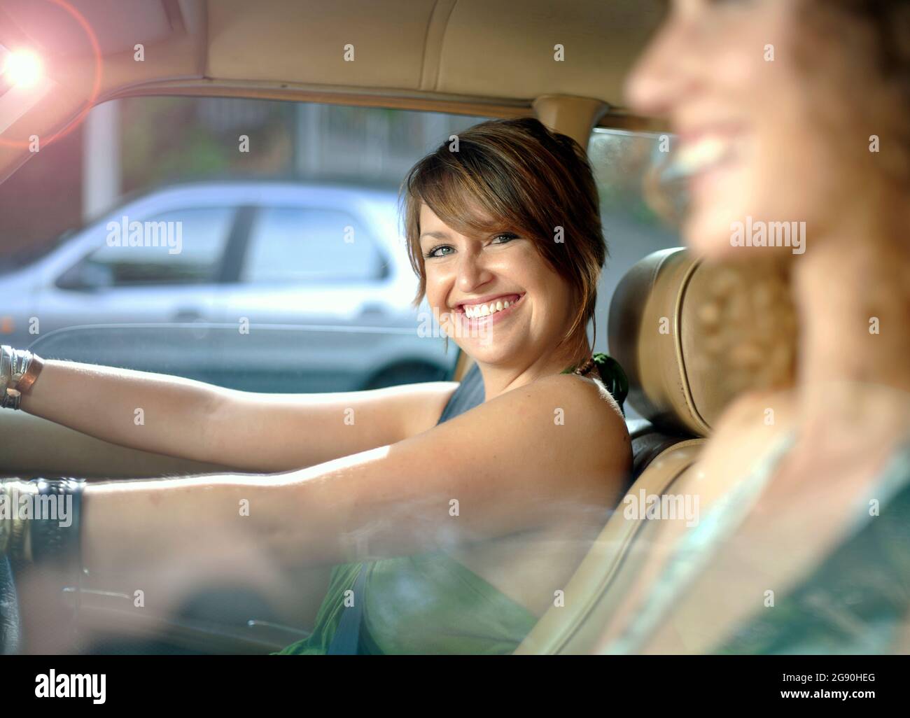
[[[0,275],[0,289],[36,287],[4,293],[15,296],[0,308],[4,343],[253,391],[448,379],[458,347],[426,301],[413,306],[399,187],[483,119],[239,97],[96,106],[85,137],[42,149],[4,184],[0,268],[19,276]],[[61,198],[51,211],[36,208],[43,187]],[[137,219],[182,223],[180,252],[106,246],[108,220],[139,206]],[[97,227],[94,246],[76,246]],[[26,249],[42,258],[21,259]],[[91,291],[111,286],[143,290]]]

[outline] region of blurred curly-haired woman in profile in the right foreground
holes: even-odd
[[[905,2],[678,0],[629,78],[678,133],[689,246],[783,265],[800,327],[792,387],[735,401],[674,486],[701,521],[662,525],[602,651],[910,650],[908,66]],[[802,247],[743,246],[758,221]]]

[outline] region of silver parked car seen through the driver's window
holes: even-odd
[[[416,287],[393,192],[183,185],[0,276],[3,339],[86,361],[105,344],[106,364],[248,390],[446,379],[455,348],[430,329],[426,304],[410,306]]]

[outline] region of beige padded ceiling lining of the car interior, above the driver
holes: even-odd
[[[244,0],[124,0],[73,6],[95,29],[60,36],[66,13],[23,0],[0,5],[0,45],[27,40],[54,68],[55,92],[10,127],[50,137],[91,104],[118,96],[215,95],[360,104],[541,120],[576,139],[590,127],[660,127],[622,109],[622,77],[660,18],[657,4],[639,0],[580,0],[572,13],[528,0],[520,14],[507,4],[479,0],[411,0],[392,8],[370,0],[326,5],[319,23],[307,5],[271,0],[268,13]],[[565,62],[552,62],[554,24],[571,44]],[[504,28],[504,29],[503,29]],[[508,41],[520,56],[475,52]],[[440,38],[445,36],[445,43]],[[68,36],[67,36],[68,37]],[[136,62],[142,38],[155,62]],[[339,38],[345,38],[339,45]],[[349,43],[365,62],[329,62],[329,48]],[[96,56],[96,53],[99,55]],[[99,73],[103,58],[104,72]],[[584,58],[584,61],[581,61]],[[282,78],[276,82],[273,78]],[[559,88],[556,91],[556,88]],[[87,100],[87,102],[86,102]],[[0,144],[0,181],[30,156],[27,147]]]

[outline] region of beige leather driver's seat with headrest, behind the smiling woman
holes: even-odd
[[[672,493],[733,399],[717,368],[696,354],[707,339],[699,311],[716,271],[685,249],[664,249],[632,267],[613,295],[610,351],[629,375],[628,403],[645,418],[629,422],[634,462],[627,496]],[[551,607],[516,653],[596,652],[657,523],[626,519],[623,505],[565,587],[564,605]]]

